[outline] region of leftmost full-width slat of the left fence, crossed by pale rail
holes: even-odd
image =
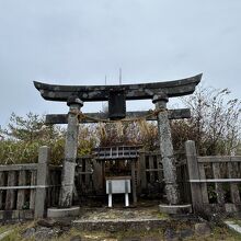
[[[10,171],[8,173],[8,186],[15,186],[15,185],[16,185],[16,172],[15,171]],[[8,190],[7,191],[5,210],[14,209],[15,197],[16,197],[15,190]]]

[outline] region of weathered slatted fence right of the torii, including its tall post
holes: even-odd
[[[192,140],[185,149],[194,211],[240,210],[241,157],[198,157]]]

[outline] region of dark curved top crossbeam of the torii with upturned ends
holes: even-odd
[[[69,96],[78,96],[83,102],[108,101],[110,93],[123,92],[125,100],[152,99],[163,92],[168,97],[192,94],[199,83],[202,73],[181,80],[122,85],[58,85],[34,81],[35,88],[45,100],[66,102]]]

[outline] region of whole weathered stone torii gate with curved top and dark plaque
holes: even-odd
[[[45,100],[66,102],[69,106],[68,115],[46,116],[47,124],[68,124],[59,206],[68,208],[72,204],[79,114],[83,103],[108,101],[108,114],[88,113],[90,118],[82,115],[82,123],[93,123],[96,118],[123,119],[147,115],[149,112],[126,112],[127,100],[147,99],[151,99],[156,105],[157,115],[148,115],[148,119],[158,120],[167,197],[170,205],[177,205],[180,193],[169,119],[188,118],[191,114],[188,108],[168,111],[167,103],[170,97],[192,94],[200,79],[202,74],[197,74],[175,81],[123,85],[56,85],[34,81],[35,88]]]

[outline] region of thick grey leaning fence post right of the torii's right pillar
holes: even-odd
[[[187,140],[185,142],[185,151],[186,151],[187,169],[188,169],[190,182],[191,182],[193,209],[194,213],[198,213],[202,211],[203,209],[203,198],[202,198],[200,183],[195,183],[195,181],[200,180],[200,177],[199,177],[199,170],[197,163],[196,147],[193,140]]]

